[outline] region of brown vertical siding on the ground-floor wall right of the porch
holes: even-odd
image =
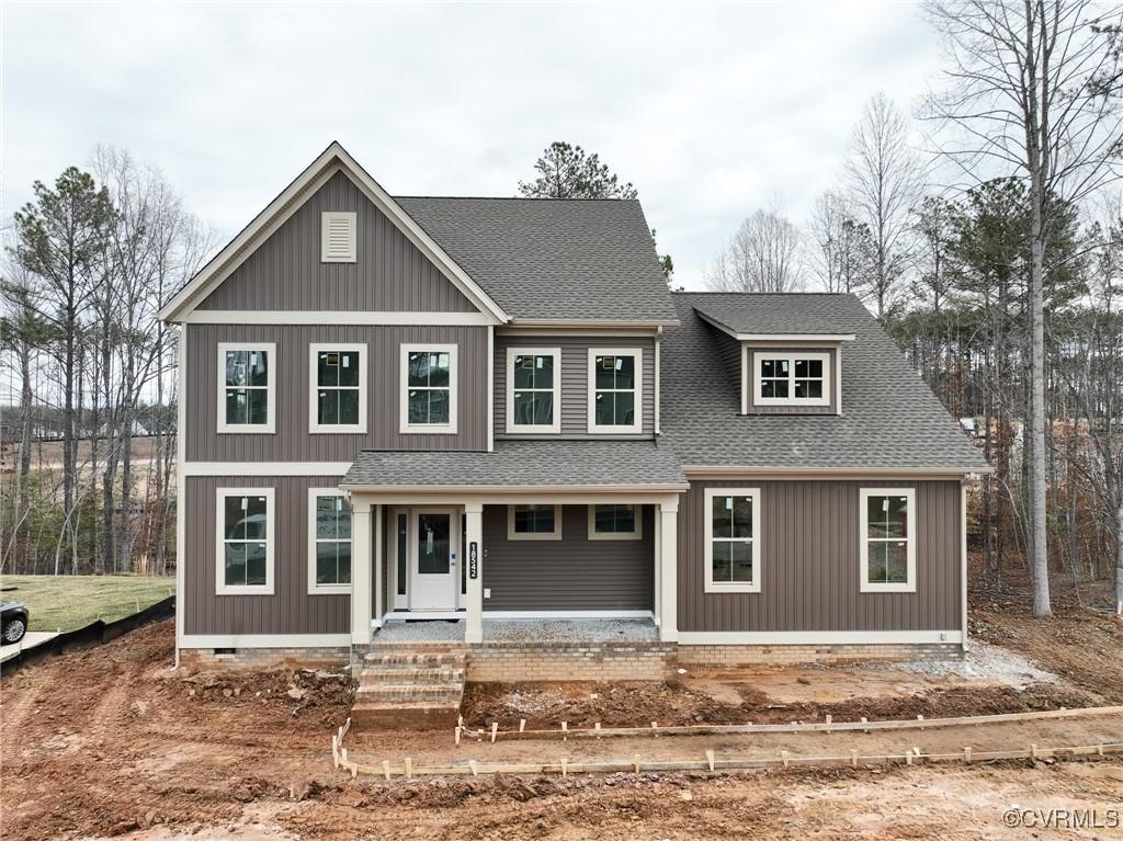
[[[760,593],[706,593],[706,487],[760,488]],[[916,490],[916,592],[859,592],[859,490]],[[953,481],[692,482],[678,523],[681,631],[944,631],[961,625]]]

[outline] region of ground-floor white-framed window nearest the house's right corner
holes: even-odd
[[[916,492],[864,487],[861,501],[862,593],[916,592]]]

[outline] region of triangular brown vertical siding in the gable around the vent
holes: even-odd
[[[330,210],[356,213],[356,263],[320,262],[320,213]],[[343,173],[309,196],[199,309],[475,310]]]

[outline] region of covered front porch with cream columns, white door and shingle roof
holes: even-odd
[[[647,481],[605,482],[605,459]],[[495,484],[512,473],[537,483]],[[681,476],[649,441],[362,453],[341,483],[353,645],[676,640]]]

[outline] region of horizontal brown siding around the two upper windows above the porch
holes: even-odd
[[[506,433],[508,348],[560,348],[562,432],[559,435]],[[588,349],[640,348],[643,351],[640,435],[588,433]],[[655,435],[655,339],[595,336],[504,336],[495,333],[495,438],[650,438]]]

